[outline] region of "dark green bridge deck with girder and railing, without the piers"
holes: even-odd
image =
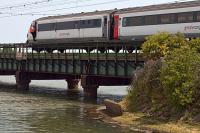
[[[86,53],[85,46],[70,50],[66,50],[70,48],[66,47],[64,53],[36,53],[27,45],[1,45],[0,70],[131,77],[133,71],[143,65],[144,59],[137,50],[136,53],[128,53],[127,47],[129,46],[123,46],[120,53],[107,50],[107,45],[105,53]]]

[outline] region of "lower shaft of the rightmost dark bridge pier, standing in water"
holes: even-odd
[[[96,85],[83,86],[83,91],[84,91],[85,98],[96,99],[97,98],[97,90],[98,90],[98,88],[99,88],[99,86],[96,86]]]

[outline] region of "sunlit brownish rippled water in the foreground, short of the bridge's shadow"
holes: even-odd
[[[57,95],[0,91],[0,133],[129,132],[89,117],[87,110],[94,107]]]

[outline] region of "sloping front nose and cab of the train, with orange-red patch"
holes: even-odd
[[[33,21],[31,23],[31,26],[30,26],[28,34],[27,34],[27,42],[28,43],[36,41],[36,33],[37,33],[36,22]]]

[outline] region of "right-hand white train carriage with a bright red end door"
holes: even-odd
[[[115,13],[114,18],[115,39],[144,40],[157,32],[200,37],[200,1],[127,8]]]

